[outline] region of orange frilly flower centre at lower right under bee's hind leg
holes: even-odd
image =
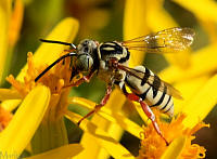
[[[195,138],[193,134],[204,127],[209,127],[203,122],[199,122],[192,129],[184,129],[182,121],[186,116],[183,114],[179,115],[176,119],[174,118],[171,122],[161,121],[159,112],[155,110],[156,120],[162,130],[165,138],[171,143],[175,138],[183,135],[187,137],[184,147],[179,156],[179,158],[205,158],[206,149],[197,144],[192,144],[191,141]],[[144,127],[143,140],[141,141],[141,147],[139,150],[139,159],[158,159],[167,149],[166,143],[157,135],[152,124]]]

